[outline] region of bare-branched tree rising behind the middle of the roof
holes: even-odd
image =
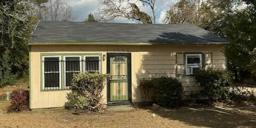
[[[142,3],[144,6],[150,6],[153,15],[152,18],[149,14],[140,11],[138,2]],[[116,18],[127,18],[142,23],[156,23],[156,2],[157,0],[139,0],[136,2],[131,2],[129,0],[99,0],[99,3],[103,5],[102,9],[100,9],[101,18],[103,21],[110,21]]]

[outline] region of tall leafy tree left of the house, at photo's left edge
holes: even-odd
[[[0,2],[0,86],[12,84],[28,69],[27,40],[34,30],[36,1]]]

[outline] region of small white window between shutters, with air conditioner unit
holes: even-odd
[[[193,75],[202,69],[202,54],[186,54],[186,75]]]

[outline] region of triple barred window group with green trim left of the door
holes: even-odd
[[[100,55],[42,55],[42,90],[71,89],[74,74],[100,68]]]

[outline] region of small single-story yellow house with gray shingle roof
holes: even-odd
[[[72,74],[110,74],[103,103],[140,102],[141,78],[178,78],[185,95],[200,69],[227,69],[227,41],[193,25],[40,21],[29,39],[30,108],[64,107]]]

